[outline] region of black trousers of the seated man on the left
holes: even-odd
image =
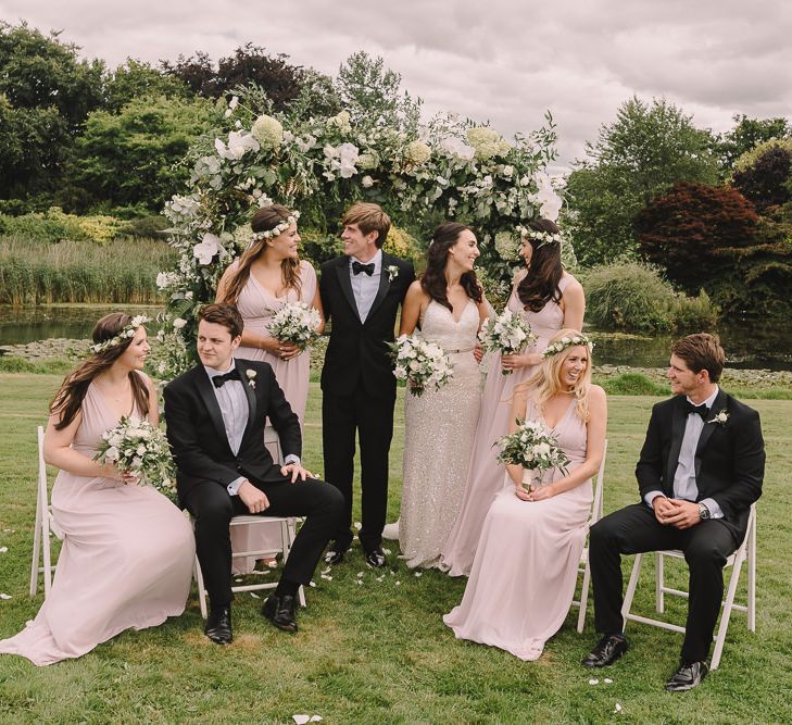
[[[294,538],[281,578],[307,584],[314,574],[330,536],[343,515],[343,498],[332,486],[315,478],[291,483],[260,484],[269,500],[262,516],[307,516]],[[231,601],[231,516],[250,514],[238,496],[229,496],[225,486],[202,482],[185,500],[196,518],[196,552],[213,608]]]

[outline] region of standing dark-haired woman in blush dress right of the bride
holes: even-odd
[[[583,324],[583,288],[562,266],[558,227],[541,218],[527,226],[520,248],[527,268],[515,276],[508,309],[524,316],[538,339],[520,354],[490,358],[460,513],[442,548],[440,567],[451,576],[470,573],[487,510],[503,483],[492,445],[508,429],[515,386],[536,372],[553,335]]]

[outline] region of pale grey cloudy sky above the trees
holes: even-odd
[[[734,113],[792,117],[788,0],[0,0],[113,67],[252,41],[335,75],[382,55],[427,115],[456,111],[506,135],[557,123],[562,163],[633,93],[664,96],[699,126]]]

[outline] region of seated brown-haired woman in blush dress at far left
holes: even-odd
[[[49,596],[0,652],[34,664],[77,658],[124,629],[184,612],[194,557],[181,512],[134,474],[92,460],[102,433],[123,415],[159,422],[156,391],[142,373],[149,354],[138,318],[113,313],[93,328],[92,353],[50,405],[45,459],[60,468],[52,515],[64,534]]]

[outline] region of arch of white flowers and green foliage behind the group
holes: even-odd
[[[307,120],[262,114],[242,98],[231,99],[215,138],[190,151],[188,192],[164,212],[179,257],[156,279],[169,295],[160,333],[163,378],[191,365],[198,309],[214,299],[223,271],[251,240],[253,213],[267,203],[299,210],[301,236],[309,229],[325,240],[328,224],[356,200],[381,204],[418,238],[442,220],[469,224],[481,240],[482,282],[495,297],[517,263],[518,227],[558,215],[562,200],[545,173],[555,158],[549,114],[546,127],[508,142],[453,116],[405,129],[377,120],[353,124],[347,111]],[[328,247],[319,243],[309,257],[336,255]]]

